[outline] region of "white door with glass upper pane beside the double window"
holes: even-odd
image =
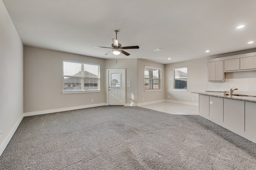
[[[107,69],[108,72],[108,105],[125,104],[125,69]]]

